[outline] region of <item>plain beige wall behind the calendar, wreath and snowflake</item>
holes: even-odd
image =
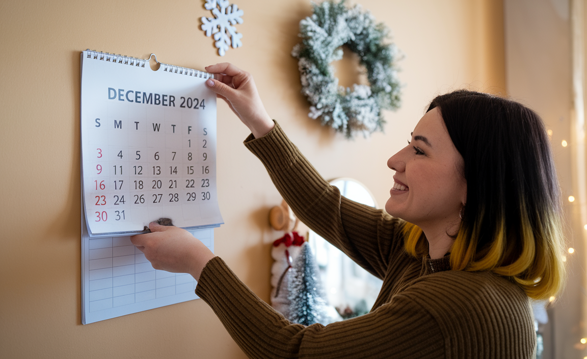
[[[198,29],[198,18],[209,15],[200,1],[0,2],[0,357],[244,357],[202,300],[80,324],[79,52],[154,52],[162,62],[196,69],[234,62],[254,74],[268,112],[323,176],[354,177],[383,204],[393,175],[386,160],[406,145],[435,94],[463,85],[503,91],[502,4],[360,3],[392,28],[406,55],[405,88],[402,108],[385,113],[385,134],[348,141],[309,119],[299,94],[290,51],[299,20],[311,14],[307,0],[238,1],[244,47],[224,58]],[[225,224],[215,230],[215,250],[268,300],[270,246],[282,233],[269,229],[266,216],[281,197],[242,146],[247,135],[221,103]]]

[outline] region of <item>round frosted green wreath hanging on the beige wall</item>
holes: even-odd
[[[347,138],[383,131],[382,109],[400,105],[397,49],[393,43],[384,43],[389,29],[375,24],[373,15],[362,12],[360,5],[346,8],[344,0],[312,6],[313,15],[299,22],[302,43],[292,50],[292,56],[299,59],[302,93],[311,103],[308,116],[319,118],[322,125]],[[342,45],[359,55],[370,86],[355,84],[350,89],[338,85],[330,63],[342,59]]]

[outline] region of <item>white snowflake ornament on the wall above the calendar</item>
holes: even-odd
[[[242,9],[239,10],[236,4],[230,5],[229,0],[206,0],[204,8],[211,10],[214,18],[203,16],[201,28],[206,36],[214,34],[218,55],[224,56],[230,45],[234,49],[241,47],[242,33],[232,25],[242,24]]]

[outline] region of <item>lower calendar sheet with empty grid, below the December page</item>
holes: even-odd
[[[198,299],[190,274],[153,269],[129,237],[90,239],[83,222],[82,324]],[[214,251],[214,229],[190,232]]]

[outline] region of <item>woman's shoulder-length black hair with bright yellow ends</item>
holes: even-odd
[[[510,277],[533,298],[554,295],[565,280],[564,238],[542,119],[513,100],[468,90],[437,96],[428,111],[434,108],[463,156],[467,180],[451,267]],[[406,250],[416,255],[426,239],[413,224],[404,232]]]

